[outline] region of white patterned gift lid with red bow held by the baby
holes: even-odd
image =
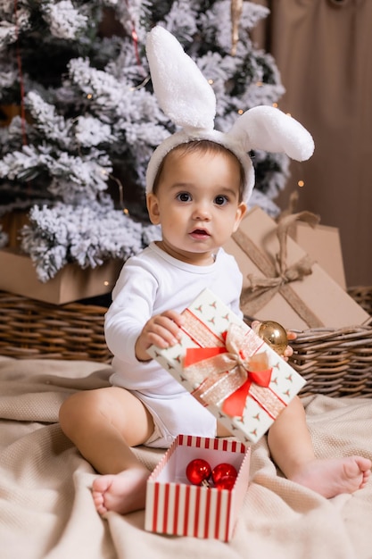
[[[183,317],[179,343],[149,355],[236,438],[257,442],[305,380],[211,290]]]

